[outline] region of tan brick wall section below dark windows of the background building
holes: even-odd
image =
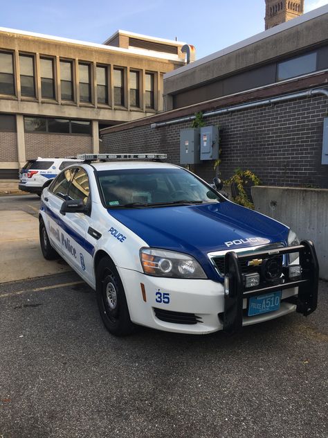
[[[26,159],[66,157],[92,152],[91,135],[25,134]]]

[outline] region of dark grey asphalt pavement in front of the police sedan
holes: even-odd
[[[327,292],[239,335],[115,338],[73,272],[2,284],[0,437],[327,437]]]

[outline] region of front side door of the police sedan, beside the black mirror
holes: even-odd
[[[62,217],[65,224],[62,250],[69,256],[73,268],[82,277],[89,279],[94,247],[86,239],[90,227],[91,194],[89,177],[84,168],[75,168],[67,200],[83,200],[84,204],[89,207],[89,213],[66,213]]]

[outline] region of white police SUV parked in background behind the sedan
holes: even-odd
[[[81,160],[74,157],[30,159],[19,170],[19,185],[21,191],[41,195],[42,190],[51,184],[62,169]]]

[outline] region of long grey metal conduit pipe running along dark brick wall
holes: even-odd
[[[226,114],[234,111],[239,111],[242,109],[259,107],[262,105],[271,105],[271,103],[284,102],[284,100],[297,99],[300,97],[316,96],[318,94],[323,94],[328,98],[328,89],[314,88],[314,89],[309,89],[307,91],[300,91],[298,93],[284,94],[282,96],[277,96],[270,99],[256,100],[255,102],[250,102],[250,103],[242,103],[242,105],[235,105],[233,107],[216,109],[215,111],[210,111],[210,112],[204,112],[203,117],[217,116],[217,114]],[[188,117],[183,117],[181,119],[173,119],[167,122],[152,123],[150,125],[150,128],[160,128],[161,126],[174,125],[175,123],[187,122],[194,119],[196,119],[196,116],[188,116]]]

